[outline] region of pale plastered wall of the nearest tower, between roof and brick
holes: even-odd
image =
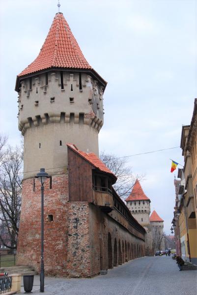
[[[18,103],[24,178],[34,176],[41,167],[50,169],[50,174],[66,171],[67,143],[99,154],[103,86],[86,73],[81,73],[81,85],[79,72],[56,71],[47,78],[46,73],[26,78],[21,82]]]

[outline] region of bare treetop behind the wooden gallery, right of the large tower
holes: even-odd
[[[131,193],[136,179],[142,180],[142,175],[135,175],[132,168],[127,165],[124,158],[118,158],[114,154],[107,154],[104,151],[100,153],[100,159],[117,177],[113,185],[118,195],[125,200]]]

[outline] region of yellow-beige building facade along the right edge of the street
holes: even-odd
[[[184,194],[180,198],[179,229],[181,253],[197,264],[197,99],[191,125],[182,127],[181,148],[184,156]]]

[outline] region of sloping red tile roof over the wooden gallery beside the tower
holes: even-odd
[[[88,161],[90,164],[92,164],[95,168],[99,169],[102,172],[111,174],[115,179],[117,177],[113,174],[113,172],[95,155],[95,153],[90,152],[86,153],[80,149],[78,149],[73,144],[67,144],[67,147],[71,148],[75,152],[77,152],[80,156],[82,156],[86,161]]]

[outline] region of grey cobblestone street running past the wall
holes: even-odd
[[[196,295],[197,270],[179,271],[171,257],[143,257],[109,269],[107,275],[46,277],[45,284],[46,295]],[[40,294],[39,276],[34,277],[32,294]]]

